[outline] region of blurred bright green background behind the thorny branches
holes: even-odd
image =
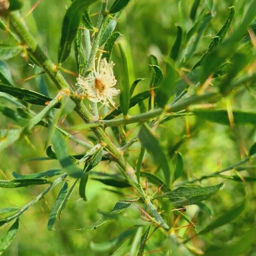
[[[22,9],[23,15],[36,3],[36,0],[24,1]],[[110,1],[112,3],[113,1]],[[236,26],[241,21],[247,3],[250,1],[241,0],[216,0],[216,12],[211,20],[209,27],[203,34],[204,40],[201,40],[196,54],[189,61],[186,68],[191,68],[198,60],[199,56],[209,45],[212,35],[224,24],[228,15],[228,7],[235,6],[236,16],[232,26]],[[37,38],[38,43],[45,49],[47,55],[52,61],[57,61],[58,42],[61,36],[61,23],[64,17],[66,6],[70,5],[69,0],[41,0],[38,7],[31,15],[26,17],[26,22],[32,34]],[[183,17],[179,11],[181,6]],[[192,21],[189,20],[189,10],[192,6],[191,0],[133,0],[128,8],[119,18],[120,22],[117,25],[116,31],[124,35],[120,40],[125,44],[128,51],[129,68],[131,71],[131,81],[137,78],[146,78],[137,86],[137,92],[141,92],[148,88],[150,68],[148,66],[148,55],[157,56],[160,61],[160,66],[163,65],[163,56],[168,55],[175,41],[176,25],[180,25],[186,29],[192,26]],[[204,1],[201,1],[198,12],[205,6]],[[94,5],[91,13],[97,12],[99,5]],[[93,17],[95,22],[95,19]],[[1,32],[1,41],[8,42],[9,39]],[[113,60],[117,62],[117,55],[114,49]],[[20,55],[7,62],[14,81],[24,79],[35,73],[33,67]],[[69,60],[64,64],[68,70],[75,70],[74,55],[71,54]],[[117,72],[118,73],[118,72]],[[74,77],[64,74],[70,81],[75,83]],[[118,74],[116,74],[118,78]],[[49,88],[50,96],[56,94],[54,85],[45,77],[47,87]],[[30,80],[18,84],[20,87],[37,90],[40,88],[35,80]],[[248,92],[241,89],[236,92],[230,99],[234,109],[243,109],[246,111],[255,111],[255,95],[251,88]],[[3,100],[0,99],[2,102]],[[220,102],[224,106],[225,102]],[[32,109],[39,110],[40,107],[32,106]],[[137,108],[131,110],[130,114],[136,113]],[[11,121],[1,115],[0,127],[6,128]],[[63,124],[63,128],[69,128],[70,125],[81,123],[81,119],[72,113],[68,116]],[[193,127],[196,127],[193,130]],[[134,125],[128,126],[131,129],[129,137],[134,136],[138,132],[138,127]],[[110,136],[115,141],[111,129],[107,129]],[[192,132],[191,132],[192,131]],[[205,122],[189,118],[174,119],[163,127],[158,128],[157,135],[163,141],[163,145],[171,148],[184,135],[190,134],[185,143],[180,147],[180,152],[184,156],[185,170],[188,177],[199,177],[204,174],[209,174],[221,167],[228,166],[241,157],[246,156],[246,152],[250,145],[255,141],[255,127],[250,125],[236,126],[231,129],[229,126],[219,125],[215,123]],[[76,137],[87,140],[93,136],[90,132],[81,132],[76,134]],[[22,174],[46,171],[49,169],[58,168],[58,162],[55,160],[47,161],[27,161],[31,157],[46,156],[44,145],[47,140],[47,129],[35,129],[33,134],[29,136],[30,142],[20,140],[15,145],[6,149],[0,154],[0,179],[6,177],[11,179],[12,172]],[[84,152],[81,146],[73,142],[69,143],[71,154],[80,154]],[[140,144],[135,143],[129,150],[131,161],[135,163],[140,150]],[[149,155],[146,155],[143,169],[152,169],[153,161]],[[107,166],[101,163],[97,166],[96,171],[117,172],[116,166],[111,163]],[[156,167],[155,167],[156,169]],[[253,175],[253,170],[251,171]],[[232,173],[232,172],[230,172]],[[186,175],[184,175],[185,177]],[[71,178],[68,178],[71,180]],[[214,178],[204,180],[203,185],[216,184],[223,179]],[[71,183],[70,183],[71,184]],[[17,189],[0,189],[0,207],[23,206],[38,195],[46,186],[37,186],[29,188]],[[109,211],[113,208],[116,201],[122,197],[106,191],[108,186],[102,183],[90,180],[87,187],[88,201],[84,202],[79,198],[78,191],[73,193],[69,203],[67,204],[61,220],[57,222],[55,231],[47,230],[47,221],[50,208],[55,201],[58,191],[57,186],[52,192],[41,200],[38,204],[31,207],[20,218],[20,229],[15,241],[11,244],[8,250],[3,253],[5,256],[80,256],[80,255],[111,255],[112,250],[96,252],[90,247],[90,243],[103,242],[115,238],[120,232],[128,229],[124,225],[115,221],[108,222],[105,225],[88,232],[79,232],[76,229],[85,227],[92,222],[101,218],[98,209]],[[205,203],[212,209],[215,214],[221,214],[224,209],[228,209],[236,202],[244,200],[244,195],[247,193],[247,198],[250,201],[249,209],[241,218],[234,221],[232,224],[224,225],[215,230],[213,233],[206,236],[208,242],[214,241],[221,243],[230,241],[234,237],[243,233],[248,227],[252,227],[256,222],[256,201],[255,201],[256,186],[253,183],[244,185],[242,182],[235,183],[227,181],[224,187]],[[124,194],[133,194],[132,189],[124,189]],[[235,195],[235,196],[234,196]],[[193,217],[197,208],[188,207],[187,215]],[[131,206],[125,215],[140,216],[140,211]],[[211,220],[211,216],[205,212],[199,212],[197,223],[203,225],[205,221]],[[6,229],[0,230],[0,236],[6,232]],[[147,250],[154,250],[161,247],[160,243],[161,231],[158,230],[154,234],[154,238],[148,243]],[[204,242],[198,241],[198,247],[204,248]],[[162,255],[160,252],[148,253],[148,255]],[[256,255],[256,246],[244,255]]]

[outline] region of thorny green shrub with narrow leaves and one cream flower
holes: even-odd
[[[121,224],[128,222],[130,227],[111,240],[111,245],[108,246],[113,255],[128,255],[129,252],[130,255],[143,255],[148,250],[150,239],[158,230],[158,236],[161,237],[161,243],[156,245],[161,247],[157,252],[159,255],[201,253],[198,239],[233,221],[246,209],[246,200],[243,200],[226,209],[222,215],[214,216],[209,224],[203,223],[199,230],[196,216],[190,218],[185,212],[186,207],[190,205],[197,205],[199,209],[209,211],[202,201],[215,194],[218,196],[224,180],[226,183],[256,180],[255,176],[239,174],[240,171],[253,168],[255,145],[251,146],[247,157],[237,163],[209,175],[186,177],[183,155],[178,150],[189,136],[182,137],[167,152],[157,137],[157,128],[166,125],[169,120],[188,116],[230,125],[231,129],[237,124],[256,124],[256,113],[234,111],[230,108],[230,97],[245,85],[252,86],[256,81],[256,0],[250,1],[243,20],[234,26],[232,31],[230,28],[236,17],[235,8],[230,7],[227,10],[225,23],[212,36],[209,46],[201,52],[200,57],[195,54],[196,49],[199,42],[204,40],[204,31],[215,17],[215,6],[209,0],[204,4],[195,0],[188,17],[192,25],[177,26],[176,40],[170,46],[169,55],[163,56],[161,60],[150,56],[151,73],[147,78],[149,87],[135,95],[134,92],[139,90],[137,85],[142,83],[143,79],[138,78],[131,83],[127,52],[119,39],[121,33],[114,31],[130,2],[132,1],[115,0],[109,4],[108,0],[73,0],[64,14],[58,63],[53,63],[29,32],[20,14],[22,2],[0,1],[0,27],[13,41],[13,44],[0,44],[0,58],[6,61],[23,53],[38,70],[31,79],[45,74],[57,89],[55,97],[50,98],[48,95],[17,87],[6,63],[1,61],[0,97],[12,107],[1,103],[0,111],[12,120],[13,126],[1,128],[0,150],[11,147],[22,138],[29,140],[36,128],[44,127],[49,131],[46,159],[54,159],[61,166],[60,169],[26,175],[13,172],[12,180],[0,180],[1,189],[6,190],[25,186],[47,186],[23,207],[0,209],[3,216],[0,225],[11,226],[0,241],[0,253],[3,253],[15,238],[20,216],[26,214],[29,207],[60,184],[62,185],[49,215],[47,227],[50,231],[54,230],[56,219],[64,214],[76,185],[79,186],[79,195],[84,201],[87,201],[86,187],[91,180],[112,186],[116,189],[111,192],[122,195],[120,201],[114,202],[115,206],[111,211],[101,212],[102,218],[99,221],[87,227],[78,227],[78,232],[86,232],[95,230],[113,219]],[[96,24],[91,20],[91,6],[99,6]],[[199,6],[201,12],[198,14]],[[63,66],[67,59],[72,57],[72,47],[76,70],[67,70]],[[115,63],[111,60],[112,51],[119,58],[116,64],[116,70],[120,73],[118,78],[115,74]],[[73,86],[70,86],[63,73],[76,76]],[[227,107],[223,108],[220,102],[226,102]],[[43,107],[41,111],[34,111],[33,105]],[[68,111],[65,107],[67,105]],[[206,109],[202,110],[200,106]],[[137,109],[135,114],[134,109]],[[87,129],[92,131],[95,137],[81,140],[72,135],[72,131],[66,131],[58,125],[61,117],[72,112],[81,117],[81,124],[71,130]],[[129,137],[129,129],[137,129],[137,135]],[[198,129],[196,125],[195,129]],[[193,128],[191,132],[192,130]],[[84,153],[70,155],[67,147],[69,140],[85,148]],[[137,160],[134,161],[130,157],[129,148],[138,142],[140,152],[137,152]],[[157,171],[143,170],[145,154],[149,154],[152,160],[144,164],[149,170],[152,168],[151,164],[156,165]],[[114,171],[112,168],[110,173],[96,172],[94,168],[102,162],[115,163]],[[235,170],[236,175],[224,175],[230,170]],[[218,177],[220,182],[200,186],[202,180],[212,177]],[[130,192],[130,198],[120,192],[125,189]],[[140,218],[125,217],[123,213],[127,208],[134,206],[140,209]],[[183,228],[186,228],[186,231],[180,232]],[[216,247],[208,243],[205,253],[224,255],[225,251],[230,250],[232,255],[240,255],[253,244],[253,236],[255,230],[248,230],[234,244]],[[247,244],[241,246],[244,239],[247,239]],[[92,250],[104,250],[100,249],[101,244],[91,246]]]

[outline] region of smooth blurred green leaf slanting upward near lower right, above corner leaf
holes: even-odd
[[[224,224],[227,224],[233,221],[235,218],[238,218],[244,211],[246,202],[242,201],[239,204],[234,205],[232,208],[224,212],[223,215],[215,218],[209,225],[202,229],[199,234],[208,233],[209,231],[215,230],[217,227],[221,227]]]

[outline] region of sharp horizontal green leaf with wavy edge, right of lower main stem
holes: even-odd
[[[207,187],[180,186],[175,190],[160,195],[159,198],[169,198],[173,207],[197,204],[214,195],[223,184],[224,183],[220,183],[215,186]]]

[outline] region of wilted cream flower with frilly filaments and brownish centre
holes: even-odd
[[[101,102],[109,106],[115,106],[113,97],[118,95],[120,90],[114,88],[116,79],[113,74],[114,63],[108,63],[106,58],[102,59],[101,55],[97,61],[97,67],[93,63],[93,72],[87,77],[80,76],[77,78],[78,92],[86,94],[91,102]]]

